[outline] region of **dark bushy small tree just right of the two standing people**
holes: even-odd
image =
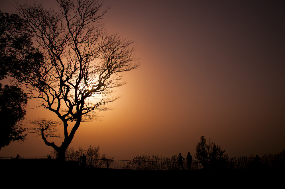
[[[219,169],[224,167],[226,161],[228,161],[228,155],[225,154],[225,150],[222,150],[220,146],[215,145],[209,139],[201,136],[200,142],[196,145],[196,159],[200,161],[204,168]]]

